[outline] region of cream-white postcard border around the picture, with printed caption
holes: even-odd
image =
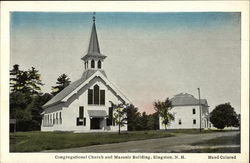
[[[11,11],[53,11],[53,12],[241,12],[241,154],[237,160],[208,160],[208,154],[184,154],[187,159],[181,162],[248,162],[249,160],[249,1],[85,1],[85,2],[1,2],[1,162],[141,162],[147,160],[56,160],[56,154],[9,153],[9,13]],[[59,154],[58,154],[59,155]],[[63,154],[67,155],[67,154]],[[68,154],[74,155],[74,154]],[[78,154],[84,155],[84,154]],[[100,154],[93,154],[100,155]],[[110,154],[102,154],[110,155]],[[128,154],[120,154],[128,155]],[[131,155],[131,154],[130,154]],[[153,154],[152,154],[153,155]],[[166,155],[166,154],[157,154]],[[173,155],[173,154],[169,154]],[[176,154],[174,154],[176,155]],[[182,155],[182,154],[178,154]],[[212,154],[209,154],[212,155]],[[215,154],[215,155],[218,155]],[[150,162],[176,160],[150,160]]]

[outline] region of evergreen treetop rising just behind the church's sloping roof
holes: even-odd
[[[51,92],[51,94],[54,96],[70,84],[70,78],[66,74],[62,74],[57,78],[56,84],[58,85],[52,87]]]

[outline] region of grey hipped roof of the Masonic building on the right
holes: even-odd
[[[199,105],[199,100],[196,99],[193,95],[188,93],[180,93],[175,95],[170,99],[172,106],[190,106],[190,105]],[[208,106],[206,99],[200,100],[201,104]]]

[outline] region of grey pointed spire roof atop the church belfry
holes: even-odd
[[[101,54],[101,51],[100,51],[94,18],[93,18],[93,26],[92,26],[92,31],[91,31],[90,41],[89,41],[88,53],[84,57],[82,57],[82,60],[85,60],[90,57],[101,58],[101,59],[106,58],[106,56]]]

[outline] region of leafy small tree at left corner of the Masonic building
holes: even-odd
[[[171,101],[168,98],[165,101],[158,100],[154,102],[154,108],[161,117],[162,123],[165,125],[165,130],[167,130],[167,125],[174,120],[174,115],[170,113],[172,109]]]

